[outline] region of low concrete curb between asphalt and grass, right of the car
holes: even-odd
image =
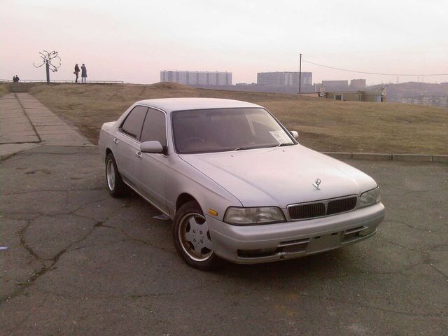
[[[448,155],[321,152],[336,159],[448,163]]]

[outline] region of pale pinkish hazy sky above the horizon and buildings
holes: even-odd
[[[255,83],[262,71],[313,73],[313,82],[366,78],[367,85],[448,74],[448,1],[0,0],[0,78],[43,80],[41,50],[57,50],[52,80],[157,83],[162,70],[231,71]]]

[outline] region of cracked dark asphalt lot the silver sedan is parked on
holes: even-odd
[[[447,335],[448,165],[347,162],[381,186],[376,237],[200,272],[156,209],[109,196],[97,148],[3,160],[0,334]]]

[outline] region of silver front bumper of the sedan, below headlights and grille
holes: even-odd
[[[344,214],[267,225],[236,226],[207,215],[214,252],[232,262],[252,264],[298,258],[356,243],[377,232],[384,205]]]

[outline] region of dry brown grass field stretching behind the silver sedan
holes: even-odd
[[[93,143],[102,123],[141,99],[217,97],[259,103],[300,143],[318,151],[448,154],[448,110],[396,103],[336,102],[294,94],[202,90],[177,84],[36,85],[43,104],[76,125]]]

